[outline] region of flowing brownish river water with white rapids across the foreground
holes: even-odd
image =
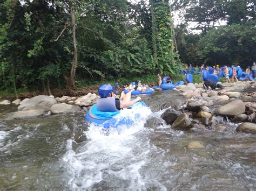
[[[256,136],[236,132],[237,124],[224,132],[145,127],[164,112],[161,103],[180,98],[143,96],[149,108],[122,112],[134,125],[109,130],[84,114],[0,120],[0,189],[255,190]],[[187,146],[194,141],[203,147]]]

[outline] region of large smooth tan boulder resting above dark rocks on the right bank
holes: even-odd
[[[245,112],[245,104],[241,100],[234,100],[215,110],[217,115],[234,117]]]

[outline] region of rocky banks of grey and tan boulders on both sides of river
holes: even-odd
[[[159,106],[159,110],[166,109],[159,118],[150,118],[146,126],[162,123],[169,124],[174,130],[200,130],[225,131],[227,123],[238,123],[237,131],[256,133],[256,88],[254,82],[224,83],[222,90],[204,90],[203,83],[178,86],[183,99],[166,102]],[[247,92],[246,92],[247,91]],[[170,93],[171,95],[172,93]],[[4,114],[6,121],[13,119],[26,119],[51,114],[65,114],[87,112],[95,104],[98,95],[88,93],[80,97],[54,97],[39,95],[25,100],[10,102],[4,100],[2,105],[19,105],[17,111]]]

